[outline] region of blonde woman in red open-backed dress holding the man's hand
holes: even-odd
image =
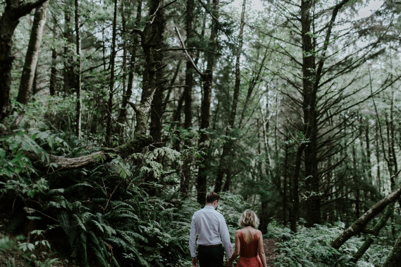
[[[238,220],[238,225],[244,228],[235,231],[235,251],[231,259],[226,261],[227,266],[232,266],[241,253],[237,267],[266,267],[262,232],[254,229],[258,224],[255,212],[245,210]]]

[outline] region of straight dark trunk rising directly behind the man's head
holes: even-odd
[[[213,0],[213,14],[216,19],[219,19],[219,0]],[[215,19],[212,19],[212,29],[211,35],[209,38],[209,50],[212,53],[207,53],[207,68],[204,74],[203,79],[203,94],[202,94],[202,105],[201,105],[201,112],[202,112],[202,119],[201,119],[201,126],[200,129],[208,129],[210,126],[210,105],[211,105],[211,96],[212,96],[212,86],[213,86],[213,69],[215,67],[215,54],[213,52],[217,49],[217,31],[218,25]],[[199,139],[199,150],[205,152],[202,155],[202,160],[199,164],[198,169],[198,193],[197,193],[197,200],[198,203],[204,205],[206,203],[206,170],[207,170],[207,153],[209,148],[209,134],[207,132],[202,131],[201,137]]]

